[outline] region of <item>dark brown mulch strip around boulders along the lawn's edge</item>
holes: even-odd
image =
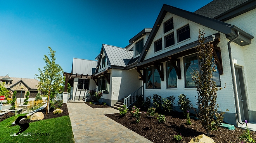
[[[57,104],[55,105],[57,107]],[[53,111],[54,109],[50,109],[49,110],[49,113],[46,114],[46,109],[47,107],[45,107],[44,109],[42,109],[41,112],[43,112],[43,120],[44,119],[51,119],[51,118],[57,118],[57,117],[62,117],[62,116],[69,116],[68,114],[68,110],[67,110],[67,104],[66,103],[63,103],[62,107],[59,107],[60,109],[63,110],[63,112],[61,114],[53,114]],[[31,121],[31,120],[26,120],[26,119],[23,119],[22,121],[20,121],[21,124],[24,124],[24,123],[32,123],[32,122],[35,122],[35,121]],[[16,124],[14,124],[13,126],[15,126]]]

